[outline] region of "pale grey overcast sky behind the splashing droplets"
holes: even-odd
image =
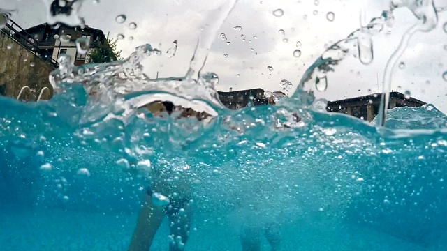
[[[13,19],[27,28],[46,22],[45,1],[50,0],[0,0],[0,8],[17,8]],[[97,1],[97,0],[96,0]],[[155,77],[182,76],[189,68],[200,28],[212,20],[207,15],[225,0],[85,0],[80,16],[89,26],[110,31],[112,36],[122,33],[119,41],[123,56],[128,56],[136,46],[150,43],[163,51],[145,62],[145,71]],[[388,0],[239,0],[232,13],[217,32],[208,56],[205,70],[219,75],[219,91],[261,87],[281,91],[279,82],[288,79],[293,83],[293,93],[307,67],[321,55],[325,45],[346,38],[360,27],[360,11],[369,20],[388,8]],[[447,6],[447,0],[434,0],[435,5]],[[273,11],[284,10],[277,17]],[[327,13],[335,14],[330,22]],[[126,15],[124,24],[115,21],[117,15]],[[129,29],[135,22],[136,29]],[[365,66],[349,56],[328,75],[328,89],[317,97],[338,100],[381,91],[386,61],[393,53],[402,33],[416,22],[409,10],[395,13],[393,27],[374,36],[374,61]],[[447,71],[447,34],[443,30],[447,12],[439,13],[437,29],[430,33],[417,33],[402,56],[404,68],[395,69],[392,89],[410,91],[413,98],[432,102],[447,113],[447,81],[442,75]],[[241,26],[237,31],[235,26]],[[279,30],[284,30],[284,36]],[[223,41],[220,34],[228,40]],[[130,37],[133,40],[130,40]],[[254,38],[257,37],[257,39]],[[243,40],[244,39],[244,40]],[[164,52],[173,40],[178,40],[174,57]],[[301,55],[293,56],[300,41]],[[227,42],[230,42],[227,45]],[[444,49],[446,47],[446,49]],[[224,56],[228,54],[228,56]],[[272,66],[270,72],[268,66]],[[270,75],[271,74],[271,75]],[[238,77],[237,75],[240,75]],[[379,78],[379,84],[377,82]]]

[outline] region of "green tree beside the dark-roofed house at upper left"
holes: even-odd
[[[96,48],[88,54],[89,63],[110,63],[111,61],[121,60],[121,51],[117,50],[117,38],[109,37],[107,33],[104,43],[96,42]]]

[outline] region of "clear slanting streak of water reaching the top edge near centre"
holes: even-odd
[[[189,70],[186,73],[186,79],[198,79],[200,70],[202,70],[203,66],[205,66],[208,52],[210,51],[216,33],[222,26],[223,22],[225,22],[228,15],[230,15],[231,10],[233,10],[236,3],[237,0],[224,1],[221,6],[210,11],[208,14],[207,24],[205,24],[205,27],[198,39],[196,50],[194,51],[191,63],[189,65]]]

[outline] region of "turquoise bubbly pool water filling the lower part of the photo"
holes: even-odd
[[[282,250],[447,249],[447,117],[432,105],[391,109],[378,130],[281,105],[217,109],[204,126],[94,104],[76,84],[49,102],[0,99],[3,247],[126,250],[150,171],[125,158],[191,181],[186,250],[240,250],[244,221],[279,223]],[[277,128],[291,112],[302,121]],[[165,222],[152,250],[167,236]]]

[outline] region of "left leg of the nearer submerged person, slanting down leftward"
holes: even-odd
[[[165,212],[163,208],[152,204],[151,196],[145,195],[145,204],[138,215],[137,225],[133,231],[129,251],[147,251],[159,229]]]

